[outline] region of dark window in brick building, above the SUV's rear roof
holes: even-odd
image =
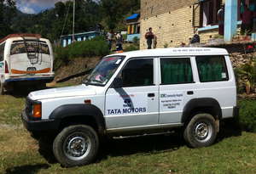
[[[221,7],[222,0],[203,0],[201,1],[201,26],[218,24],[218,9]]]

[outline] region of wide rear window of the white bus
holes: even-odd
[[[17,53],[44,53],[49,54],[49,47],[44,42],[13,42],[10,54]]]

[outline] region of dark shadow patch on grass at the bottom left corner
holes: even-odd
[[[9,168],[5,171],[6,174],[22,174],[22,173],[38,173],[41,169],[48,169],[49,165],[47,164],[38,164],[38,165],[26,165],[26,166],[15,166],[13,168]]]

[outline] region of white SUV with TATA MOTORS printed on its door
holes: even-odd
[[[237,113],[225,49],[164,48],[109,55],[82,85],[30,93],[22,120],[32,133],[55,133],[62,166],[81,166],[106,136],[181,127],[190,147],[211,145],[219,121]]]

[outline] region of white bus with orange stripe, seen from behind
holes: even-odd
[[[53,61],[48,39],[35,34],[6,36],[0,41],[0,94],[4,89],[52,81]]]

